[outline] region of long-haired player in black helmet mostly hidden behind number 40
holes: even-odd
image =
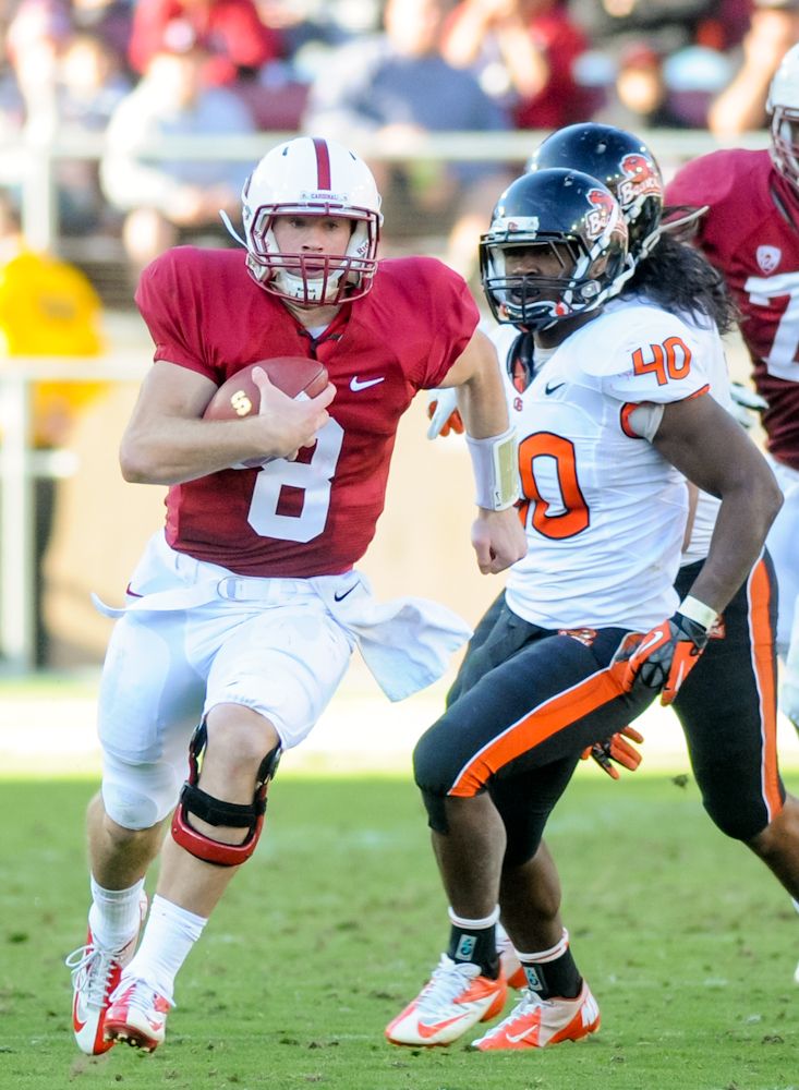
[[[638,193],[637,186],[629,184],[630,162],[635,165]],[[702,347],[711,396],[729,408],[727,368],[718,329],[727,332],[734,327],[736,311],[721,275],[706,259],[668,233],[659,233],[663,184],[649,148],[632,134],[607,125],[571,125],[540,145],[529,169],[567,164],[605,182],[620,198],[625,217],[630,217],[635,274],[608,308],[646,303],[677,313],[692,327]],[[702,570],[717,512],[718,499],[700,492],[675,582],[680,597]],[[709,814],[723,832],[743,840],[759,855],[796,897],[799,896],[799,804],[786,796],[776,761],[773,584],[766,553],[713,626],[705,651],[673,706],[686,731]],[[485,621],[481,622],[471,641],[470,655],[471,649],[479,646],[484,638],[484,625]],[[624,739],[617,738],[600,749],[598,759],[605,767],[618,744],[624,744]],[[624,753],[620,755],[624,758]],[[633,755],[633,762],[637,756]],[[566,936],[567,932],[561,930],[559,918],[557,871],[543,843],[529,864],[529,877],[531,915],[552,928],[541,940],[546,946],[553,935]],[[501,929],[498,935],[509,982],[530,988]],[[564,942],[568,940],[565,937]],[[540,979],[545,976],[546,967],[543,973],[538,971]],[[530,988],[522,1005],[543,1012],[546,1021],[559,1002],[550,998],[548,1005],[541,1004],[540,992]]]

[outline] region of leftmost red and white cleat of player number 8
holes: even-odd
[[[86,945],[73,950],[64,962],[72,970],[72,1028],[77,1047],[87,1056],[99,1056],[113,1044],[113,1041],[106,1041],[104,1037],[105,1016],[111,992],[119,984],[122,970],[135,954],[147,916],[146,894],[142,894],[138,910],[138,930],[120,949],[110,949],[95,942],[89,928]]]

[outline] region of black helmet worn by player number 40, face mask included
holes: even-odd
[[[494,317],[524,329],[595,310],[632,271],[613,195],[564,169],[525,174],[505,191],[481,239],[480,262]]]

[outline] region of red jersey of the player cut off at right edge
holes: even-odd
[[[799,196],[767,150],[714,152],[666,187],[669,205],[710,205],[697,244],[724,274],[744,320],[768,450],[799,470]]]

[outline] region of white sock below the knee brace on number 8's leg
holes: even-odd
[[[137,977],[146,980],[165,1000],[172,1003],[178,970],[203,934],[207,922],[202,916],[195,916],[156,894],[142,944],[122,973],[122,985],[129,979]]]

